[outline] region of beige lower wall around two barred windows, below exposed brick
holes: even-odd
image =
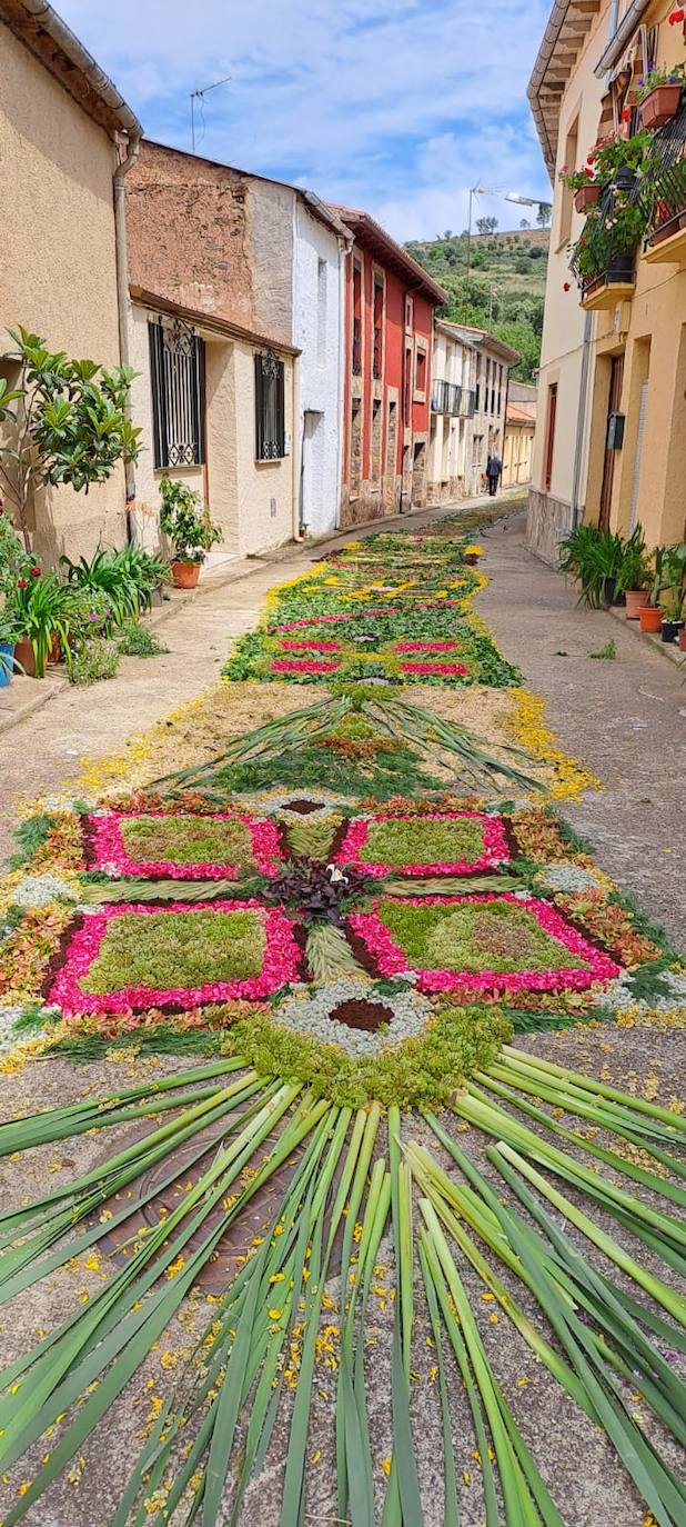
[[[136,464],[136,539],[159,545],[162,470],[152,455],[152,389],[148,318],[133,304],[130,316],[131,365],[139,373],[131,391],[134,423],[143,429],[145,452]],[[169,470],[200,493],[212,522],[221,530],[215,550],[235,556],[265,551],[288,541],[291,521],[291,455],[280,461],[255,460],[255,347],[198,325],[206,342],[206,466]],[[285,428],[293,438],[293,360],[285,359]],[[271,513],[274,499],[276,513]]]

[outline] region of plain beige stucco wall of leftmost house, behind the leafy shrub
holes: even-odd
[[[119,363],[114,145],[0,23],[0,356],[23,324],[52,350]],[[90,554],[125,536],[123,470],[37,502],[37,550]]]

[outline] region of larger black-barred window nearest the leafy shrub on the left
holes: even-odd
[[[204,341],[180,319],[148,324],[155,469],[204,461]]]

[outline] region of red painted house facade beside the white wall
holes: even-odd
[[[434,308],[447,295],[369,217],[335,208],[346,255],[343,527],[427,502]]]

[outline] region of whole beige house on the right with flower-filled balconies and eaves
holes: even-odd
[[[553,215],[527,534],[552,563],[584,521],[622,534],[640,524],[649,545],[686,534],[683,92],[675,115],[651,127],[643,185],[631,174],[599,185],[601,211],[588,214],[559,179],[563,166],[584,171],[588,154],[593,163],[599,139],[620,145],[637,131],[649,63],[668,73],[683,61],[678,8],[555,0],[529,82]],[[637,221],[619,249],[623,197]]]

